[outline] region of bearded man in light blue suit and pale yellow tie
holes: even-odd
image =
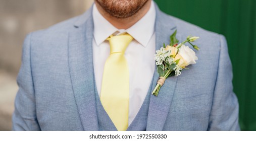
[[[200,37],[198,60],[156,97],[153,55],[175,30],[180,41]],[[239,130],[225,38],[151,0],[95,0],[82,16],[29,34],[17,82],[14,130]]]

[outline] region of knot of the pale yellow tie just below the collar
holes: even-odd
[[[110,54],[112,53],[125,53],[127,46],[133,40],[129,34],[110,36],[107,40],[110,42]]]

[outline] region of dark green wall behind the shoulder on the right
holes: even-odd
[[[225,35],[241,130],[256,130],[256,0],[155,0],[159,8]]]

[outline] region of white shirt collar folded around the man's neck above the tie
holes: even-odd
[[[127,30],[114,27],[99,13],[95,4],[93,5],[92,18],[94,24],[93,36],[97,45],[103,43],[110,35],[116,32],[127,32],[141,45],[146,47],[155,30],[156,9],[155,5],[151,2],[148,12]]]

